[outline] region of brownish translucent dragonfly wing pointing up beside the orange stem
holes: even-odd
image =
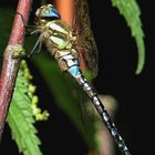
[[[75,0],[73,32],[78,38],[75,49],[80,54],[81,70],[89,71],[93,79],[97,75],[97,48],[91,29],[86,0]]]

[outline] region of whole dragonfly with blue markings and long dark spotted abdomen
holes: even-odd
[[[83,0],[80,1],[75,3],[75,8],[85,8],[87,11],[86,3]],[[80,20],[81,16],[82,20]],[[85,18],[85,12],[82,9],[76,10],[73,27],[71,27],[61,20],[61,16],[53,4],[43,4],[35,11],[35,30],[33,33],[40,35],[33,49],[38,44],[41,46],[41,42],[45,44],[48,51],[58,61],[61,71],[70,74],[83,87],[122,154],[131,155],[97,93],[84,78],[85,69],[89,69],[92,76],[97,74],[97,50],[87,23],[90,24],[90,20]]]

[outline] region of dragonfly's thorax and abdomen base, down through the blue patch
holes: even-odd
[[[76,38],[73,35],[71,27],[62,20],[53,20],[38,24],[38,29],[48,50],[58,60],[60,69],[70,71],[74,66],[75,69],[70,72],[74,76],[79,75],[79,54],[74,49]]]

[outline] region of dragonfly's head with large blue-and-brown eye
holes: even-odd
[[[44,4],[40,7],[35,12],[35,17],[44,20],[61,19],[60,13],[53,4]]]

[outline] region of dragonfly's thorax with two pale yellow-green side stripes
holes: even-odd
[[[65,22],[61,20],[41,20],[37,27],[41,34],[43,34],[43,41],[49,50],[51,46],[56,48],[58,50],[72,49],[72,45],[75,42],[75,37],[72,34],[71,27]]]

